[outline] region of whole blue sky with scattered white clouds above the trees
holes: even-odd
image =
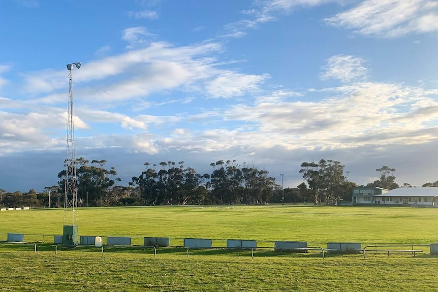
[[[358,185],[438,180],[438,2],[0,0],[0,189],[57,183],[72,71],[76,157],[236,160],[284,187],[340,161]]]

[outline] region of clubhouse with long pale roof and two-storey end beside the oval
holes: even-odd
[[[438,206],[438,187],[354,187],[354,204]]]

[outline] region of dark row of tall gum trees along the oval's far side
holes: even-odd
[[[303,162],[299,173],[304,182],[294,188],[283,189],[269,176],[267,170],[236,160],[218,160],[211,163],[211,173],[198,174],[185,167],[184,161],[162,161],[151,165],[132,177],[128,186],[118,185],[114,167],[106,168],[107,160],[83,157],[75,161],[77,199],[79,207],[186,205],[186,204],[248,204],[312,202],[319,205],[351,201],[352,188],[358,185],[348,180],[348,171],[339,161],[321,159],[318,163]],[[399,187],[395,169],[388,166],[376,169],[379,179],[366,186],[387,189]],[[45,187],[42,193],[34,189],[23,193],[0,189],[0,206],[10,207],[64,207],[65,170],[58,175],[57,185]],[[404,183],[404,187],[411,187]],[[438,181],[423,187],[438,186]]]

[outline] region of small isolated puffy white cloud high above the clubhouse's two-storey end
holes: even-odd
[[[351,55],[335,55],[327,60],[323,67],[324,73],[320,75],[322,80],[338,79],[341,82],[362,80],[367,76],[368,70],[363,67],[363,58]]]

